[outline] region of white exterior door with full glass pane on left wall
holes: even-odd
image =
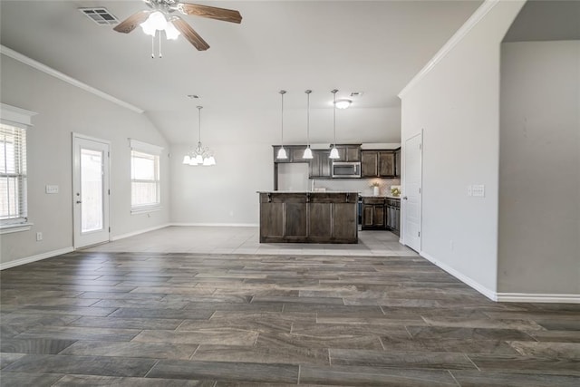
[[[74,248],[108,242],[109,142],[73,133]]]

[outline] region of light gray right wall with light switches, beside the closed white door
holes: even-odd
[[[421,255],[487,295],[497,291],[499,46],[522,5],[499,2],[469,21],[401,92],[402,160],[405,140],[424,131]],[[473,184],[485,185],[485,198],[468,196]]]

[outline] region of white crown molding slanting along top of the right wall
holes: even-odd
[[[493,9],[496,5],[499,4],[501,0],[486,0],[479,8],[471,15],[467,22],[465,22],[459,30],[451,38],[447,41],[443,47],[431,58],[431,60],[421,69],[417,75],[415,75],[411,82],[407,83],[407,85],[399,92],[398,97],[402,99],[407,92],[409,92],[422,78],[424,78],[430,71],[441,62],[445,56],[457,45],[459,42],[463,40],[463,38],[469,34],[469,31],[475,27],[479,21],[485,16],[488,15],[488,12]]]

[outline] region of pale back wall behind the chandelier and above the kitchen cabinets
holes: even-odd
[[[401,140],[400,114],[398,108],[337,111],[336,141],[397,143]],[[284,120],[284,143],[305,144],[305,109],[285,109]],[[224,132],[224,128],[237,130],[228,138],[223,138],[220,133]],[[171,222],[257,225],[256,191],[274,189],[272,145],[281,141],[280,111],[258,108],[216,111],[204,107],[201,137],[203,145],[214,150],[217,161],[214,167],[182,164],[185,152],[198,138],[196,129],[197,123],[193,122],[189,144],[171,146]],[[310,135],[311,143],[333,142],[331,108],[311,111]],[[336,189],[332,186],[328,188]]]

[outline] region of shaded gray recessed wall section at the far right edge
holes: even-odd
[[[502,44],[498,290],[580,294],[580,42]]]

